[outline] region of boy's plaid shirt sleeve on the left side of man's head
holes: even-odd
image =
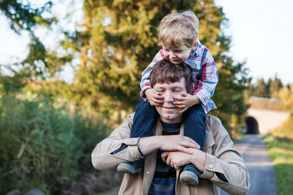
[[[162,59],[165,59],[165,56],[163,54],[163,48],[156,54],[155,58],[150,62],[150,64],[146,67],[146,69],[142,73],[142,80],[140,82],[140,87],[142,91],[140,92],[140,95],[144,99],[146,99],[145,90],[147,88],[151,88],[150,80],[149,80],[149,74],[151,72],[151,69],[155,65],[155,63],[157,63],[158,61]]]

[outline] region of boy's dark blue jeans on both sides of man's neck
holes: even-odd
[[[141,99],[137,106],[131,128],[131,137],[150,137],[153,136],[154,123],[158,112],[155,106]],[[190,137],[200,145],[203,150],[205,144],[206,113],[202,105],[196,104],[183,113],[184,136]]]

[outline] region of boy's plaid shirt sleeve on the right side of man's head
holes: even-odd
[[[218,83],[218,69],[216,63],[211,56],[209,50],[206,52],[204,64],[201,70],[201,78],[198,81],[198,86],[192,95],[196,95],[204,106],[207,105],[209,98],[213,95]]]

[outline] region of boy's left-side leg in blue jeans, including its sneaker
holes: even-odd
[[[157,110],[149,102],[141,99],[137,106],[133,117],[131,127],[131,137],[150,137],[153,136],[153,127],[157,118]],[[142,172],[145,159],[134,162],[120,163],[117,171],[126,174],[135,174]]]

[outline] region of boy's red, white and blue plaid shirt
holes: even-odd
[[[145,100],[146,95],[144,92],[147,88],[151,88],[149,74],[155,63],[161,59],[165,59],[163,48],[156,54],[155,58],[142,73],[142,80],[140,83],[142,91],[140,95]],[[210,110],[217,108],[215,103],[210,99],[218,83],[216,63],[208,48],[200,42],[197,44],[195,50],[189,54],[185,63],[191,68],[193,76],[192,88],[189,94],[196,95],[201,100],[201,104],[207,114]]]

